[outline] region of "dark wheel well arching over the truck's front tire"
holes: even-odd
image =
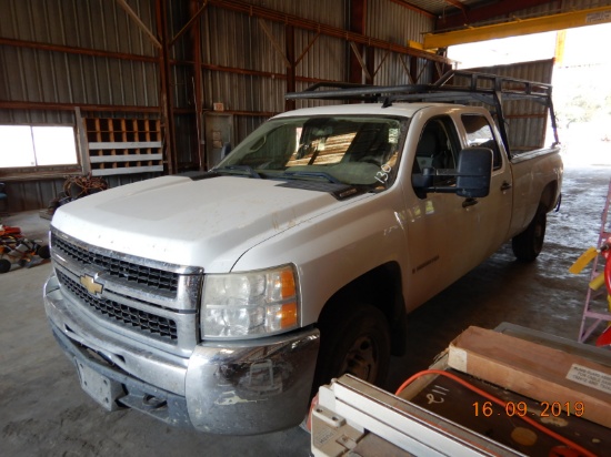
[[[405,352],[407,313],[401,286],[401,268],[395,262],[380,265],[335,292],[319,316],[319,323],[341,318],[350,304],[364,302],[379,308],[388,319],[391,354]]]

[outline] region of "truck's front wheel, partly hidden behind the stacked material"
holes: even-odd
[[[390,329],[380,309],[357,303],[328,313],[319,324],[315,390],[345,373],[374,385],[384,382],[390,363]]]

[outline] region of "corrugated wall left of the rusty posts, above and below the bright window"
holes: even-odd
[[[130,0],[129,4],[144,23],[154,27],[153,2]],[[156,50],[140,29],[132,27],[117,2],[4,1],[0,38],[19,42],[9,45],[3,41],[0,45],[0,101],[22,105],[0,109],[1,124],[77,126],[79,120],[70,105],[159,105]],[[112,116],[114,113],[89,115]],[[142,116],[142,113],[129,115]],[[3,177],[10,172],[0,171],[0,180],[7,183],[9,210],[47,207],[62,192],[62,170],[46,170],[43,174],[22,170],[19,177],[12,180]],[[144,175],[137,176],[138,180],[142,177]],[[116,186],[132,182],[134,177],[112,176],[107,181]]]

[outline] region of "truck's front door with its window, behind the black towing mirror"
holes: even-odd
[[[424,167],[455,169],[461,141],[452,118],[439,115],[428,120],[411,148],[415,150],[412,174]],[[434,176],[433,185],[455,186],[455,177]],[[424,194],[414,186],[405,192],[410,273],[411,282],[415,283],[409,287],[409,302],[418,305],[480,262],[473,245],[481,234],[477,214],[473,207],[464,205],[465,199],[454,193]]]

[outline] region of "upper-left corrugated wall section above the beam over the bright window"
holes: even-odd
[[[127,13],[104,0],[11,0],[0,14],[0,37],[153,58],[156,52]],[[154,23],[151,2],[132,1],[142,21]],[[119,32],[120,31],[120,32]],[[0,100],[44,103],[157,106],[154,62],[0,47]],[[2,110],[1,122],[8,121]]]

